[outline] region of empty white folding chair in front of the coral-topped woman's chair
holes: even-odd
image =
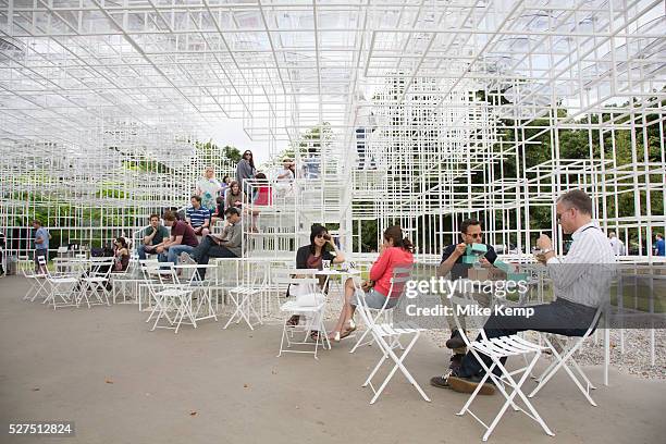
[[[414,385],[417,392],[419,392],[421,397],[423,397],[423,399],[430,403],[430,398],[428,397],[428,395],[425,395],[425,392],[423,392],[419,383],[416,381],[416,379],[414,379],[411,373],[409,373],[409,370],[407,370],[407,367],[405,367],[405,360],[407,359],[409,351],[411,351],[411,348],[417,343],[421,335],[421,332],[424,329],[421,329],[412,323],[395,325],[393,324],[393,322],[375,323],[377,317],[372,317],[372,313],[370,312],[370,309],[366,304],[363,293],[358,292],[356,294],[356,297],[358,300],[356,311],[360,313],[366,326],[368,328],[368,332],[370,332],[373,341],[379,345],[382,350],[382,357],[380,358],[377,366],[374,366],[374,368],[368,375],[368,379],[362,385],[363,387],[370,386],[370,388],[374,393],[374,396],[372,396],[370,404],[374,404],[377,399],[379,399],[380,395],[382,394],[393,375],[397,372],[397,370],[400,370],[407,381],[409,381],[409,383]],[[395,350],[402,348],[402,346],[399,345],[399,338],[408,335],[411,335],[411,341],[407,344],[403,353],[398,356]],[[386,361],[388,358],[391,358],[391,360],[393,361],[393,368],[391,369],[384,381],[380,384],[379,388],[374,388],[374,385],[372,385],[372,378],[374,378],[384,361]]]

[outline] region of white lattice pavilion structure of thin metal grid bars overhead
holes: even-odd
[[[205,165],[233,171],[197,145],[232,119],[276,163],[319,165],[263,210],[248,255],[291,256],[313,222],[361,251],[367,220],[439,255],[467,215],[529,251],[555,226],[533,212],[569,187],[651,243],[665,33],[663,0],[0,0],[0,226],[133,233],[186,205]],[[567,158],[572,130],[583,155]]]

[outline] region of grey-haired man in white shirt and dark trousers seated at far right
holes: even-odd
[[[536,259],[546,264],[553,280],[555,300],[531,306],[533,314],[491,314],[483,330],[491,337],[508,336],[526,330],[582,336],[592,323],[596,309],[608,296],[609,274],[616,262],[613,248],[604,233],[592,222],[592,199],[574,189],[557,199],[557,221],[565,234],[571,234],[571,247],[562,260],[555,257],[548,236],[542,234],[536,245],[542,249]],[[486,365],[491,359],[481,355]],[[461,366],[448,378],[434,377],[431,384],[472,393],[483,375],[483,367],[468,353]],[[479,392],[490,395],[494,386],[485,383]]]

